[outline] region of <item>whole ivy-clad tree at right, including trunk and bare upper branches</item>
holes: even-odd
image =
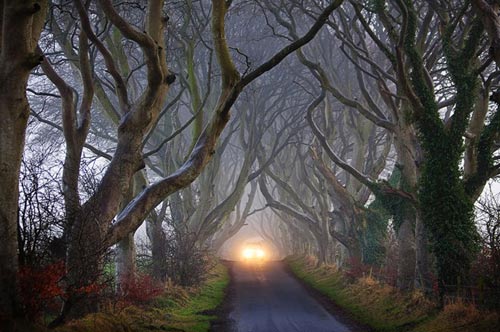
[[[399,116],[417,130],[422,149],[414,187],[417,217],[429,232],[444,291],[446,284],[467,276],[478,242],[473,202],[497,170],[491,158],[498,112],[488,103],[496,75],[483,47],[483,25],[469,3],[377,1],[368,6],[352,1],[352,5],[370,39],[391,62],[397,94],[407,101]],[[366,17],[379,23],[371,26]],[[481,75],[487,78],[482,80]],[[418,240],[419,228],[416,234]]]

